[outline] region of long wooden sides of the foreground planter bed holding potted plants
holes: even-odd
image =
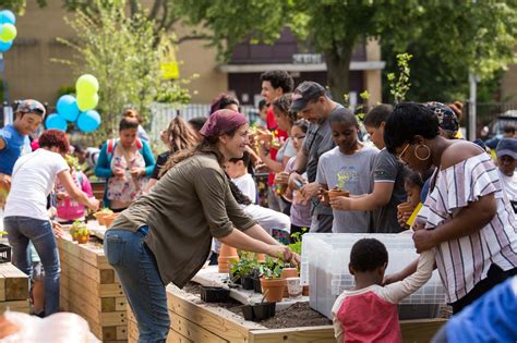
[[[167,302],[171,328],[167,342],[175,343],[335,343],[332,326],[267,329],[247,321],[223,307],[204,304],[199,296],[183,292],[173,285],[167,287]],[[401,321],[404,342],[429,342],[444,319]],[[128,306],[129,342],[136,342],[139,330]]]

